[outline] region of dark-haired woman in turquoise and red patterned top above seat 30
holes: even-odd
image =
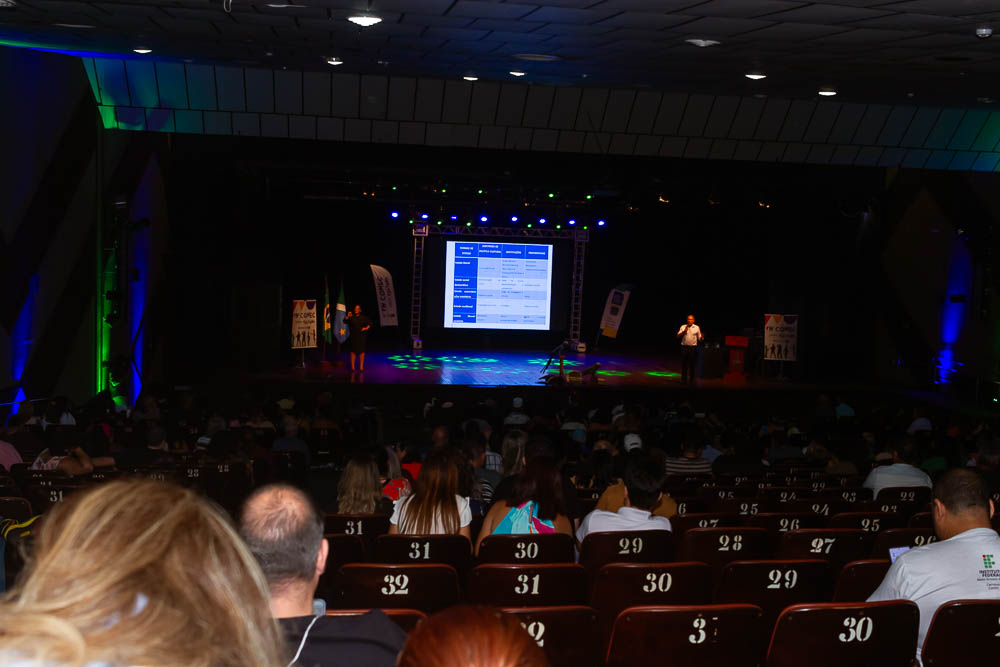
[[[552,459],[539,457],[528,461],[510,497],[497,501],[486,515],[476,553],[488,535],[548,533],[572,536],[573,524],[566,517],[559,469]]]

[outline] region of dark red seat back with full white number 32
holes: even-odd
[[[338,581],[334,608],[419,609],[432,614],[458,602],[458,574],[450,565],[354,563],[340,568]]]

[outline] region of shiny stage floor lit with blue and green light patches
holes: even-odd
[[[347,355],[343,355],[346,357]],[[486,352],[471,350],[423,350],[415,352],[378,352],[367,355],[364,374],[352,375],[343,361],[337,364],[307,365],[260,379],[298,380],[305,382],[465,385],[465,386],[541,386],[547,352],[514,350]],[[597,386],[606,387],[681,387],[680,360],[654,356],[628,356],[588,352],[572,354],[564,361],[565,371],[582,371],[600,363]],[[558,373],[558,359],[549,373]],[[723,386],[721,379],[699,380],[703,386]],[[586,385],[593,386],[588,378]],[[755,383],[756,384],[756,383]]]

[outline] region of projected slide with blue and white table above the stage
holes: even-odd
[[[444,326],[548,331],[552,246],[448,241]]]

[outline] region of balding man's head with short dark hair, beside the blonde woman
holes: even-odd
[[[263,486],[243,504],[240,534],[264,572],[274,615],[311,614],[329,553],[323,515],[312,500],[293,486]]]

